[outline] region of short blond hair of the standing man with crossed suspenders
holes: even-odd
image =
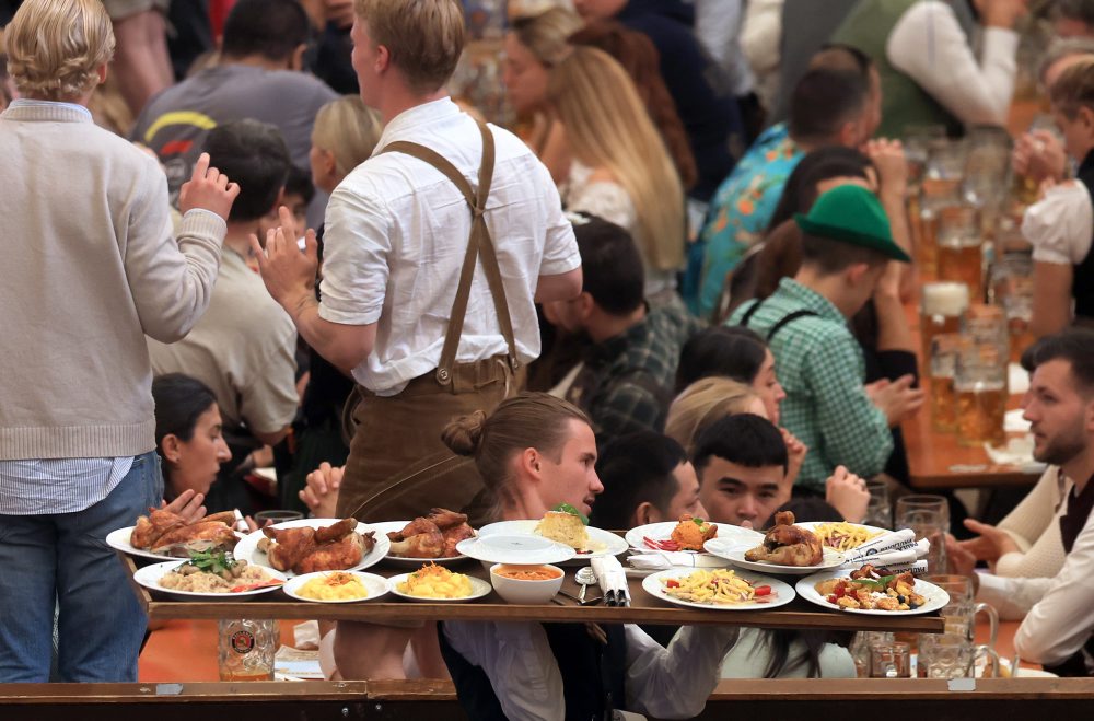
[[[410,90],[432,93],[449,82],[466,36],[457,0],[353,0],[353,10]]]

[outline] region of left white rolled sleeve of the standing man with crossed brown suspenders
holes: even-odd
[[[323,233],[319,317],[345,325],[380,319],[391,275],[394,226],[386,210],[372,199],[349,190],[345,183],[335,189]]]

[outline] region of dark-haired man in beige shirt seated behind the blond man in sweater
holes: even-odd
[[[247,266],[251,235],[281,201],[291,161],[278,129],[257,120],[217,126],[205,147],[240,184],[217,284],[208,312],[184,339],[149,339],[148,350],[156,375],[185,373],[216,394],[235,461],[223,479],[255,447],[284,438],[296,414],[296,329]],[[226,500],[223,484],[214,490]]]

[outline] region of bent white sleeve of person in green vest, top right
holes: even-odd
[[[984,28],[980,61],[952,8],[936,0],[913,4],[889,34],[885,53],[943,107],[968,125],[1003,125],[1014,93],[1019,35]]]

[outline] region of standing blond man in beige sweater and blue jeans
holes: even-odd
[[[26,0],[0,115],[0,683],[136,682],[146,618],[106,535],[163,500],[144,337],[209,304],[240,189],[197,160],[172,236],[154,159],[88,112],[114,54],[98,0]]]

